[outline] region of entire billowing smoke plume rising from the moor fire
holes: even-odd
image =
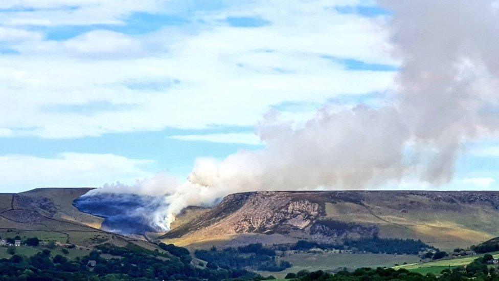
[[[398,87],[382,105],[326,104],[301,125],[269,112],[256,126],[264,149],[197,159],[184,183],[159,174],[96,192],[162,194],[153,224],[168,230],[182,208],[234,192],[374,188],[408,175],[450,181],[463,145],[499,126],[497,2],[381,4],[393,11],[393,54],[401,61]]]

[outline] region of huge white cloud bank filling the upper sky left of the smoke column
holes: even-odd
[[[81,5],[88,9],[101,5],[92,3]],[[102,5],[117,5],[117,11],[93,10],[95,15],[88,20],[116,19],[117,13],[168,4],[147,3],[143,8],[111,1]],[[336,3],[229,5],[195,14],[194,22],[202,19],[205,25],[168,27],[144,35],[92,31],[66,41],[16,43],[11,48],[20,55],[5,56],[0,62],[0,98],[9,105],[0,113],[0,127],[11,128],[15,135],[75,138],[165,127],[248,126],[283,101],[323,103],[336,95],[387,91],[393,72],[350,71],[322,58],[394,62],[387,52],[384,20],[338,14],[331,8]],[[52,24],[72,13],[75,24],[79,20],[79,12],[36,13]],[[248,29],[219,21],[243,14],[261,15],[271,24]],[[129,81],[151,79],[178,82],[152,90],[127,87]],[[95,102],[136,106],[92,115],[43,110]]]

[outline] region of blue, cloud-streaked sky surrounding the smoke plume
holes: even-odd
[[[5,1],[1,191],[185,179],[198,157],[263,149],[269,111],[299,127],[325,104],[382,106],[391,16],[355,0]],[[496,188],[496,142],[466,147],[442,188]]]

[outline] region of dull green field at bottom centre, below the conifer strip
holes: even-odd
[[[289,272],[300,270],[317,271],[333,270],[338,268],[355,269],[359,267],[390,267],[395,264],[415,263],[419,261],[416,255],[390,255],[390,254],[339,254],[339,253],[292,253],[282,260],[288,261],[292,267],[281,272],[256,271],[263,276],[273,275],[282,278]]]

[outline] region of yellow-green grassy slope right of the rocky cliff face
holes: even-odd
[[[453,206],[418,196],[406,201],[421,207],[404,206],[405,202],[383,197],[368,198],[365,206],[338,202],[326,203],[325,207],[328,219],[376,224],[381,237],[421,239],[444,250],[479,244],[499,234],[499,215],[487,205]],[[404,207],[409,211],[401,212]]]

